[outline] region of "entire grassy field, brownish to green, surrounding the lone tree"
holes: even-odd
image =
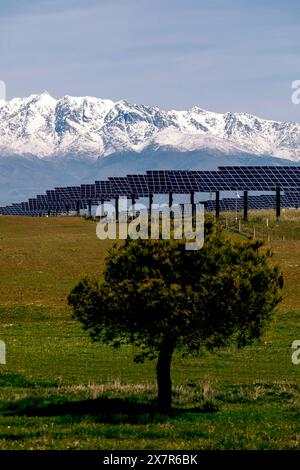
[[[102,275],[110,241],[74,217],[0,217],[0,449],[300,449],[300,216],[270,218],[284,300],[244,350],[175,357],[174,411],[155,413],[155,364],[91,343],[66,297]],[[236,235],[241,237],[241,235]]]

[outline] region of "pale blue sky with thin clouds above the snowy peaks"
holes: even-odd
[[[300,121],[297,0],[1,0],[7,96],[47,90]]]

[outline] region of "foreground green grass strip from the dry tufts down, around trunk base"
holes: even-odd
[[[174,390],[170,416],[153,386],[1,390],[2,449],[299,449],[299,389],[288,383]],[[9,395],[9,398],[7,397]]]

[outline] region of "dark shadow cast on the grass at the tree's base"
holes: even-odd
[[[188,413],[212,413],[213,408],[174,408],[169,414],[157,412],[155,403],[139,403],[122,398],[101,397],[96,399],[49,403],[43,398],[28,397],[0,406],[2,416],[67,417],[72,421],[88,418],[97,423],[143,424],[164,422],[166,419]]]

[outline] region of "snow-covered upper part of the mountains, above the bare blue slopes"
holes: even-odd
[[[252,154],[300,161],[300,123],[193,107],[157,107],[47,92],[0,102],[0,155],[97,159],[121,152]]]

